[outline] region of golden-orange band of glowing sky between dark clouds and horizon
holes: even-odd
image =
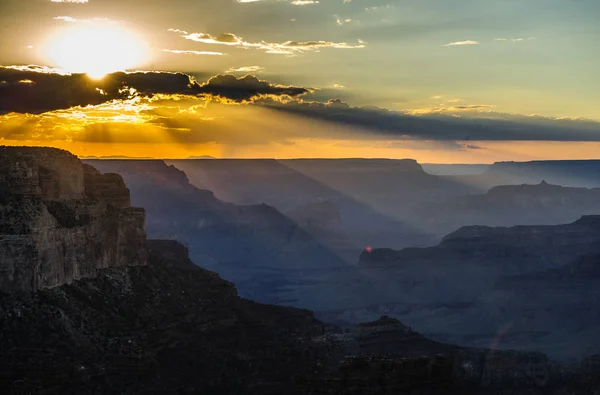
[[[595,157],[600,149],[598,142],[458,144],[376,138],[360,128],[259,106],[231,106],[168,95],[134,97],[39,115],[5,114],[0,116],[0,144],[53,146],[81,156],[367,157],[414,158],[425,163],[586,159]]]

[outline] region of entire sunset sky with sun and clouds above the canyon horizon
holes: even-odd
[[[0,0],[0,143],[596,158],[598,15],[597,0]]]

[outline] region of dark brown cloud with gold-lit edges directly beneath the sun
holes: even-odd
[[[39,114],[74,106],[98,105],[134,95],[213,95],[235,102],[263,96],[299,96],[309,89],[275,85],[252,75],[217,75],[204,84],[183,73],[117,72],[102,79],[60,74],[37,66],[0,67],[0,113]]]

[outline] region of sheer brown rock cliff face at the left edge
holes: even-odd
[[[145,212],[115,174],[57,149],[0,148],[0,291],[147,263]]]

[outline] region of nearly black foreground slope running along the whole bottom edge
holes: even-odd
[[[434,342],[383,317],[341,333],[258,304],[150,241],[148,266],[0,296],[4,394],[559,394],[598,366]],[[567,392],[565,392],[567,391]],[[571,392],[569,392],[571,391]],[[588,392],[589,393],[589,392]]]

